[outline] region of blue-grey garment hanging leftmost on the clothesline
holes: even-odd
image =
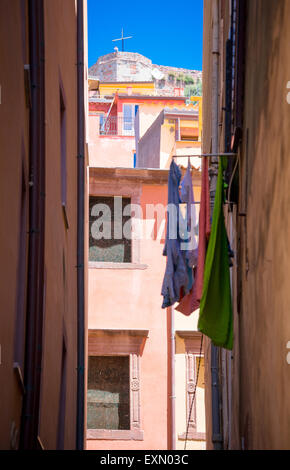
[[[181,251],[181,238],[179,234],[179,184],[181,172],[174,161],[170,165],[168,176],[168,205],[171,209],[167,212],[167,231],[163,255],[167,256],[166,270],[164,274],[161,294],[163,295],[162,308],[170,307],[178,302],[180,294],[188,292],[189,278],[186,266],[186,252]],[[170,228],[174,228],[173,232]]]

